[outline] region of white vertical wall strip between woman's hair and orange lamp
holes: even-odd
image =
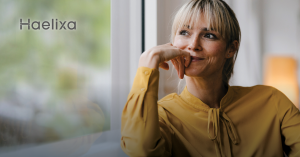
[[[260,0],[230,0],[241,28],[241,44],[230,85],[262,84],[262,33]]]

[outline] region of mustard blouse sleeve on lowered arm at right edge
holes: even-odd
[[[300,112],[280,91],[274,93],[277,99],[278,116],[281,123],[284,150],[289,157],[300,156]]]

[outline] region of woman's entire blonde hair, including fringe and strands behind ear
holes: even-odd
[[[178,29],[188,25],[194,26],[200,20],[201,14],[208,21],[207,28],[221,34],[227,42],[227,47],[235,40],[240,43],[240,26],[233,10],[222,0],[192,0],[183,5],[176,13],[172,26],[171,42],[173,43]],[[233,57],[228,58],[224,64],[222,79],[229,82],[233,74],[234,63],[238,54],[239,46]]]

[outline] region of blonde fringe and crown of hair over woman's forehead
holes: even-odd
[[[232,24],[230,13],[225,8],[223,3],[216,0],[192,0],[185,4],[174,17],[170,41],[173,43],[178,29],[195,26],[201,17],[206,18],[209,30],[214,30],[225,40],[230,40],[233,37],[231,34],[234,34],[237,28]]]

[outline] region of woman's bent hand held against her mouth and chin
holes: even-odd
[[[139,60],[139,67],[156,68],[158,67],[168,70],[169,65],[166,63],[171,60],[178,77],[183,79],[184,69],[188,67],[191,62],[190,53],[181,50],[171,43],[155,46],[145,51]]]

